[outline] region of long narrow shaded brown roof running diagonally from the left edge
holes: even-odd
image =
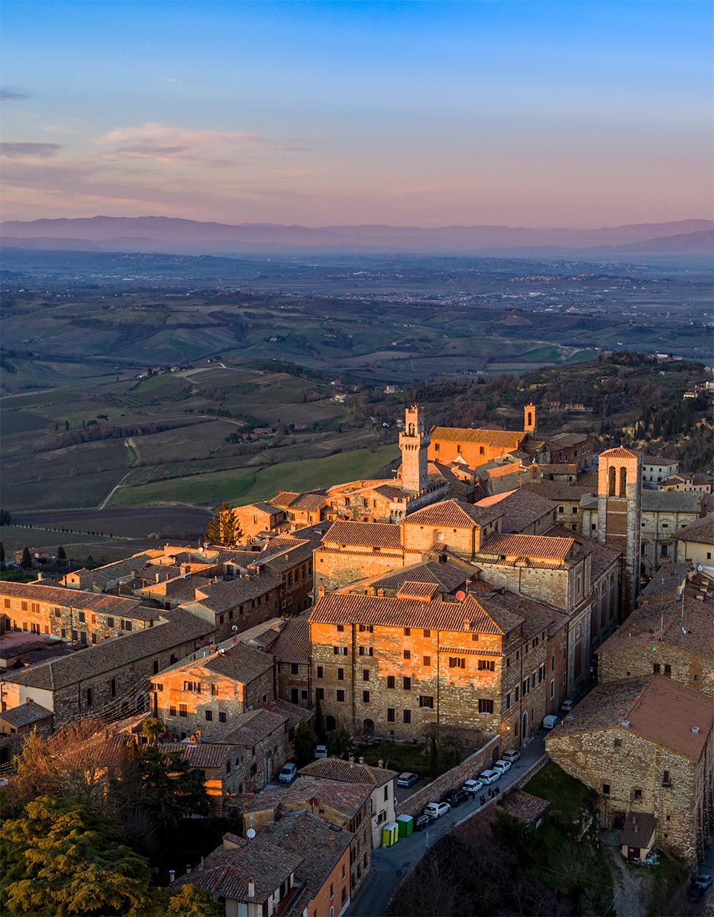
[[[72,656],[8,672],[4,679],[33,688],[56,691],[78,681],[95,678],[103,672],[128,666],[138,659],[156,656],[174,646],[202,640],[215,631],[213,624],[183,609],[175,608],[172,612],[164,612],[163,616],[166,624],[156,624],[136,633],[111,637],[96,646],[87,646]]]

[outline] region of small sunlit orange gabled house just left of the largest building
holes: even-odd
[[[273,701],[273,657],[237,643],[184,659],[151,679],[153,715],[170,732],[224,735],[226,725],[259,703]]]

